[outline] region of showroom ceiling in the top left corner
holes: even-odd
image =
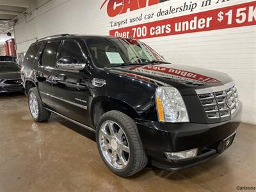
[[[0,41],[8,38],[6,33],[12,32],[15,19],[35,3],[36,0],[0,0]]]

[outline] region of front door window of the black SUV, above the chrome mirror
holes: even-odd
[[[61,47],[60,58],[73,57],[76,58],[77,63],[83,63],[83,54],[77,42],[73,40],[65,40]]]

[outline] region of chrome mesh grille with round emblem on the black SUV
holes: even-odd
[[[238,108],[236,86],[212,93],[198,94],[208,118],[223,118],[232,115]]]

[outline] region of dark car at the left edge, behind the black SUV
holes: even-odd
[[[0,93],[22,90],[20,66],[12,61],[0,61]]]

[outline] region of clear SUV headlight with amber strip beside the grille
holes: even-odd
[[[156,106],[159,122],[189,122],[186,106],[176,88],[159,86],[156,89]]]

